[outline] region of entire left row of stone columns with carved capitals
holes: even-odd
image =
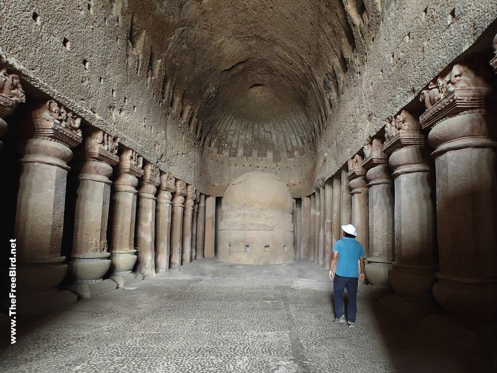
[[[2,118],[24,101],[18,76],[1,70],[0,135],[7,130]],[[59,307],[77,295],[89,298],[214,256],[214,197],[119,145],[119,138],[82,128],[82,119],[54,100],[24,109],[18,118],[11,132],[22,143],[13,232],[20,313]],[[61,243],[70,170],[78,187],[68,197],[75,198],[75,211],[67,259]]]

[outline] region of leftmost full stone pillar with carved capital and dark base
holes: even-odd
[[[81,119],[50,100],[26,120],[33,134],[24,146],[17,195],[17,310],[33,314],[73,303],[77,296],[58,291],[68,272],[61,256],[67,163],[70,148],[82,141]]]

